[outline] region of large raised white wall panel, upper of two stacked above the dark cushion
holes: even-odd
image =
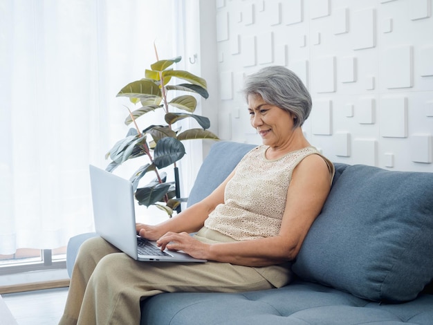
[[[385,84],[388,89],[412,87],[412,46],[396,46],[385,50]]]

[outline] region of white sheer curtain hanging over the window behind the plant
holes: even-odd
[[[91,231],[89,163],[125,136],[116,94],[176,51],[181,0],[0,0],[0,254]]]

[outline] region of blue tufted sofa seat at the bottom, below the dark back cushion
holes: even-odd
[[[141,324],[432,324],[433,296],[379,304],[333,288],[295,281],[251,293],[169,293],[142,304]]]

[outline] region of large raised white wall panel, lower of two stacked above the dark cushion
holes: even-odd
[[[380,136],[407,138],[407,98],[380,100]]]

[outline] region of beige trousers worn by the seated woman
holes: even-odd
[[[197,239],[232,241],[212,230]],[[59,324],[140,324],[140,300],[159,293],[264,290],[288,284],[287,266],[250,268],[229,263],[139,262],[100,237],[84,242],[77,255],[64,315]]]

